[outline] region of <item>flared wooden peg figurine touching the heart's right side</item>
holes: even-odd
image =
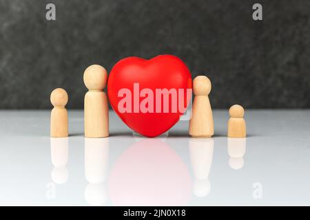
[[[197,76],[193,80],[194,102],[192,118],[189,120],[189,135],[192,137],[211,137],[214,124],[209,93],[211,82],[207,76]]]

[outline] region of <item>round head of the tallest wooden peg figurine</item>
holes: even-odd
[[[85,69],[84,84],[89,90],[103,90],[107,84],[107,70],[101,65],[91,65]]]

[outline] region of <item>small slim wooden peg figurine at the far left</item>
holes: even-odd
[[[68,94],[65,89],[54,89],[50,94],[50,102],[54,106],[50,115],[50,136],[68,137],[68,112],[65,109]]]

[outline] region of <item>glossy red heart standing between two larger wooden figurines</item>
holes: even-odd
[[[138,93],[134,89],[134,83],[135,85],[138,83]],[[143,113],[140,104],[145,98],[149,98],[149,95],[140,97],[139,93],[142,89],[147,88],[151,89],[154,94],[154,102],[152,102],[154,112]],[[123,112],[119,109],[118,104],[125,97],[125,95],[118,97],[118,92],[121,89],[127,89],[132,94],[130,98],[132,112]],[[170,96],[169,111],[165,112],[164,98],[161,99],[161,103],[156,103],[156,89],[176,89],[177,105],[184,103],[184,107],[187,107],[187,89],[192,89],[192,76],[180,58],[172,55],[160,55],[150,60],[138,57],[124,58],[114,65],[107,82],[107,94],[114,111],[127,126],[147,137],[155,137],[169,130],[185,111],[180,108],[178,111],[172,111],[172,105],[176,102],[173,102],[172,96]],[[184,91],[184,95],[178,93],[180,90]],[[161,104],[161,107],[158,107],[158,104]],[[159,112],[155,111],[156,105]],[[128,107],[127,104],[124,106]]]

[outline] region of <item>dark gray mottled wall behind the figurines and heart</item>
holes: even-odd
[[[85,67],[158,54],[207,75],[214,108],[310,107],[308,0],[0,0],[0,30],[0,109],[50,108],[56,87],[81,109]]]

